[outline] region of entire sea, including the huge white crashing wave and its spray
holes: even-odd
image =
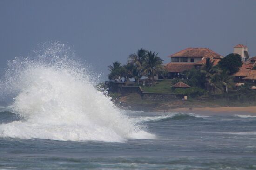
[[[256,117],[118,109],[67,51],[8,63],[0,170],[256,169]]]

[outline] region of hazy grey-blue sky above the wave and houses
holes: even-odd
[[[207,47],[256,56],[256,0],[0,0],[0,67],[38,44],[61,41],[97,72],[139,48],[168,55]]]

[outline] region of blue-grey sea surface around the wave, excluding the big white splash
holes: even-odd
[[[256,169],[256,117],[127,114],[157,138],[122,143],[0,138],[0,170]],[[19,119],[0,112],[0,124]]]

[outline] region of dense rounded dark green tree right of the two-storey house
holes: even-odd
[[[239,70],[243,63],[239,54],[231,53],[222,58],[218,64],[222,69],[228,69],[230,74],[233,74]]]

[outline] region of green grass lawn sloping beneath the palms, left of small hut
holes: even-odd
[[[173,93],[172,91],[172,81],[171,80],[162,80],[156,82],[155,86],[141,86],[144,92],[151,93]]]

